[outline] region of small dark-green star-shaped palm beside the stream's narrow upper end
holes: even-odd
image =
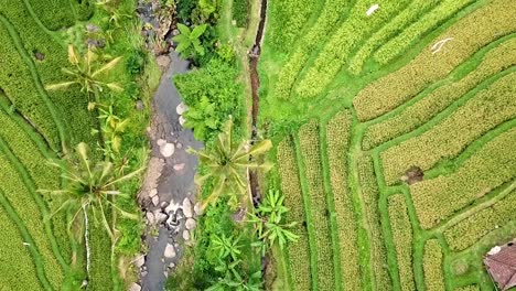
[[[190,30],[189,26],[178,23],[178,29],[181,34],[175,35],[172,39],[174,42],[178,42],[178,47],[175,47],[175,51],[183,57],[193,56],[195,53],[204,55],[204,47],[201,45],[198,37],[203,35],[203,33],[206,31],[206,24],[202,24],[194,28],[193,30]]]

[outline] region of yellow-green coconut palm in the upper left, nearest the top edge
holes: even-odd
[[[71,76],[71,80],[65,80],[45,86],[47,90],[67,89],[71,86],[78,85],[82,91],[94,94],[98,98],[98,93],[108,88],[114,91],[123,90],[117,83],[105,82],[105,74],[109,73],[120,62],[121,57],[115,57],[107,64],[96,68],[98,56],[88,47],[86,54],[80,56],[77,54],[73,45],[68,45],[68,62],[73,68],[63,67],[62,71]],[[98,101],[98,100],[97,100]]]

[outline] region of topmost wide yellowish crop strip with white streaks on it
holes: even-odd
[[[512,33],[516,22],[512,21],[507,6],[515,4],[514,1],[497,0],[475,10],[434,39],[432,43],[453,37],[441,52],[432,55],[426,47],[406,66],[370,83],[353,99],[358,119],[369,120],[393,110],[429,84],[447,76],[481,47]]]

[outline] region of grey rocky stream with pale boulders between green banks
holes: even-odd
[[[195,226],[194,175],[197,159],[186,153],[189,147],[198,149],[190,129],[180,125],[178,106],[181,97],[172,76],[187,71],[189,63],[171,53],[171,65],[163,74],[152,100],[149,137],[152,144],[148,174],[139,194],[146,214],[143,237],[147,255],[136,261],[140,268],[142,290],[163,290],[169,272],[182,256],[182,246]]]

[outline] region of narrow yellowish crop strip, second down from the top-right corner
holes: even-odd
[[[443,85],[385,121],[368,127],[362,147],[364,150],[369,150],[424,125],[469,90],[474,89],[477,84],[515,65],[515,52],[516,39],[510,39],[491,50],[482,63],[461,80]]]

